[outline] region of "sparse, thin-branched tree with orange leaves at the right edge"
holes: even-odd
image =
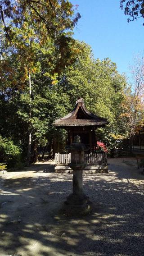
[[[144,124],[144,56],[139,54],[134,57],[133,66],[130,67],[132,85],[124,91],[121,119],[127,127],[128,136]]]

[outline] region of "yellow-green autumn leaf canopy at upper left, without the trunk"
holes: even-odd
[[[0,0],[0,21],[5,34],[3,47],[11,48],[16,55],[23,81],[28,72],[40,71],[38,52],[49,55],[47,65],[51,75],[72,63],[76,45],[71,32],[80,17],[67,0]],[[9,69],[6,58],[1,65],[1,77],[5,68],[13,75],[13,67]]]

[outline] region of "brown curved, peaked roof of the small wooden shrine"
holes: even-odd
[[[108,120],[90,113],[84,105],[82,98],[76,101],[76,106],[71,113],[63,118],[55,120],[55,127],[72,127],[72,126],[95,126],[103,127],[108,124]]]

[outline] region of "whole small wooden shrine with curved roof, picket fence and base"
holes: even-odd
[[[89,148],[89,151],[85,153],[85,163],[87,163],[85,170],[89,170],[89,173],[108,172],[107,153],[97,153],[95,134],[97,128],[104,127],[106,124],[108,124],[107,119],[90,113],[85,108],[82,98],[76,101],[76,106],[70,114],[54,122],[55,127],[67,130],[67,145],[71,145],[74,142],[74,137],[78,135],[81,138],[81,143]],[[56,172],[67,172],[70,169],[68,164],[71,162],[71,154],[56,153],[55,162]]]

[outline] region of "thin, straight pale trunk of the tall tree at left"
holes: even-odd
[[[29,118],[31,119],[31,74],[29,73],[29,97],[30,97],[30,105],[29,105]],[[28,147],[27,147],[27,165],[30,164],[31,157],[31,132],[28,136]]]

